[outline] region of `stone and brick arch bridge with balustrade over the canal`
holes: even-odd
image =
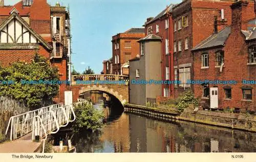
[[[71,77],[73,102],[79,95],[90,91],[102,91],[114,96],[122,105],[129,102],[129,76],[124,75],[74,75]]]

